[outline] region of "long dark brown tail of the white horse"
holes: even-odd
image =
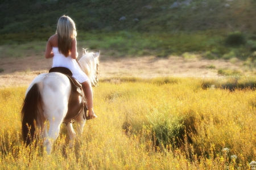
[[[27,145],[35,138],[35,121],[40,116],[40,107],[42,108],[42,97],[39,84],[35,83],[27,92],[22,106],[22,135]]]

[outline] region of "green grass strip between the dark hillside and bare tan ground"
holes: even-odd
[[[53,32],[54,33],[54,32]],[[53,34],[52,33],[52,34]],[[6,35],[8,37],[8,35]],[[17,40],[14,35],[9,41],[0,43],[2,53],[0,57],[27,57],[43,56],[49,35],[45,35],[45,41],[26,41],[28,34],[16,34],[16,37],[24,36],[24,41]],[[31,33],[31,36],[34,36]],[[1,36],[0,36],[1,38]],[[5,40],[5,36],[2,37]],[[252,50],[255,40],[241,46],[225,45],[225,35],[222,32],[192,32],[192,33],[146,33],[137,31],[117,32],[79,32],[77,35],[77,49],[82,53],[82,48],[101,50],[105,56],[112,57],[140,57],[140,56],[183,56],[184,58],[204,57],[207,59],[232,59],[245,60],[254,56]]]

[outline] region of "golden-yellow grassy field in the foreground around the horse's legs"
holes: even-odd
[[[86,122],[72,149],[62,125],[51,155],[41,140],[23,145],[26,87],[1,88],[0,168],[250,169],[256,159],[255,92],[220,86],[234,80],[101,80],[93,89],[98,118]]]

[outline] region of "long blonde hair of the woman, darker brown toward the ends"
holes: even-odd
[[[56,33],[58,35],[59,52],[68,57],[71,53],[72,41],[77,35],[75,22],[69,16],[61,16]]]

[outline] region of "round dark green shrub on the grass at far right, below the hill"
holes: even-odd
[[[237,46],[245,44],[245,36],[240,31],[230,32],[226,37],[226,45]]]

